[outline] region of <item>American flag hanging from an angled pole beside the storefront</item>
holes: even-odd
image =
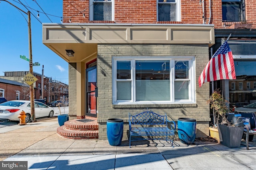
[[[236,79],[233,55],[227,40],[214,53],[201,73],[199,87],[205,82],[222,79]]]

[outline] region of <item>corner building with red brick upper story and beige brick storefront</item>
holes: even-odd
[[[194,118],[197,137],[208,135],[210,83],[199,89],[198,77],[241,21],[254,32],[255,3],[63,0],[63,24],[43,24],[43,43],[69,63],[70,118],[96,117],[106,139],[107,119],[124,119],[126,132],[128,113],[149,107],[174,121]]]

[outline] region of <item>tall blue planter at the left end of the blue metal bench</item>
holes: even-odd
[[[123,119],[108,119],[107,120],[107,137],[108,143],[111,146],[118,146],[122,142],[124,130]]]

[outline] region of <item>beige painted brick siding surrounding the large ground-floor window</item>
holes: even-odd
[[[189,51],[189,53],[188,53]],[[196,56],[196,80],[208,62],[208,45],[125,45],[102,44],[98,45],[97,75],[98,75],[98,121],[99,139],[106,139],[106,121],[109,118],[124,119],[124,138],[127,138],[128,113],[142,111],[146,105],[128,105],[127,108],[118,108],[112,105],[112,56]],[[104,74],[102,74],[104,72]],[[196,104],[149,105],[159,113],[167,113],[169,119],[177,121],[179,117],[194,118],[197,121],[197,137],[209,134],[210,110],[206,105],[209,98],[209,83],[198,87],[196,83]],[[168,106],[168,107],[166,107]],[[208,127],[208,128],[206,128]]]

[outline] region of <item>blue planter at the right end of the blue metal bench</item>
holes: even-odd
[[[196,138],[196,119],[178,118],[178,134],[182,143],[192,144]]]

